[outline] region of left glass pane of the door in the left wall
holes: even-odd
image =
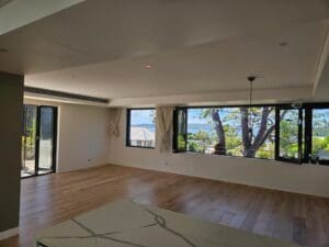
[[[35,175],[36,106],[24,105],[22,135],[22,177]]]

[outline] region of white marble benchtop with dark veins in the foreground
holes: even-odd
[[[123,200],[41,231],[46,247],[297,247],[184,214]]]

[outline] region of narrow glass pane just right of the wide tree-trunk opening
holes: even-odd
[[[280,110],[280,157],[287,159],[299,159],[299,110]]]

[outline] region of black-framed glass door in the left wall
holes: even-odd
[[[21,176],[55,171],[57,109],[24,105]]]

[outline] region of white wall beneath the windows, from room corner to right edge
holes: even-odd
[[[125,123],[126,114],[123,114],[122,135],[111,139],[111,164],[329,197],[328,166],[202,154],[160,154],[158,149],[125,147]]]

